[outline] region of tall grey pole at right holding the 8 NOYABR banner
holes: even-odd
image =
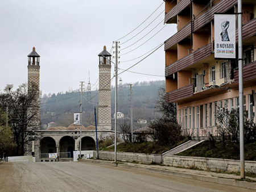
[[[243,136],[243,43],[242,43],[242,0],[238,0],[238,74],[239,74],[239,121],[240,121],[240,174],[245,179],[245,155]]]

